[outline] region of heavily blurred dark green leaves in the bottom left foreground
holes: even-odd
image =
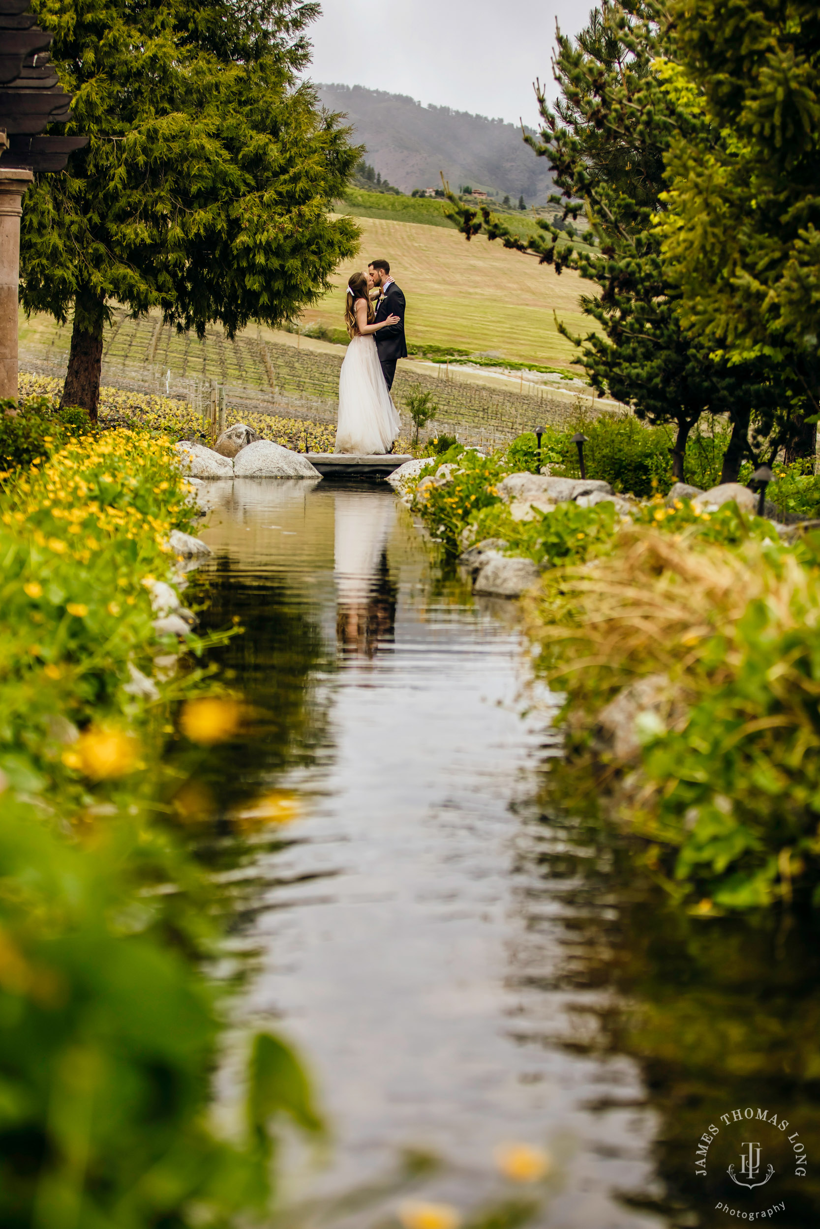
[[[262,1036],[236,1141],[209,1125],[223,1013],[182,946],[167,941],[162,902],[135,891],[133,850],[148,842],[160,853],[148,826],[146,815],[120,815],[68,842],[37,807],[2,799],[0,1220],[9,1229],[182,1229],[194,1203],[209,1227],[261,1218],[277,1115],[316,1122],[298,1063]],[[259,1061],[269,1050],[275,1067]]]

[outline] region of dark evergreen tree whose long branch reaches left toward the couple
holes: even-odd
[[[642,419],[674,425],[672,472],[681,481],[686,440],[701,414],[729,414],[722,481],[730,482],[749,449],[750,422],[767,436],[792,390],[766,360],[731,366],[681,327],[680,291],[656,234],[666,208],[664,155],[676,133],[704,120],[654,69],[664,50],[674,50],[655,16],[656,6],[642,0],[628,6],[605,0],[577,39],[558,34],[553,70],[561,98],[553,111],[538,87],[543,125],[540,138],[527,141],[550,160],[562,193],[552,199],[564,206],[561,225],[540,219],[541,234],[520,240],[489,210],[481,210],[479,220],[462,206],[461,229],[470,237],[483,226],[489,238],[596,283],[599,294],[584,296],[581,306],[597,328],[570,338],[593,386],[631,404]],[[589,222],[583,234],[574,225],[581,211]],[[558,247],[567,237],[570,242]]]

